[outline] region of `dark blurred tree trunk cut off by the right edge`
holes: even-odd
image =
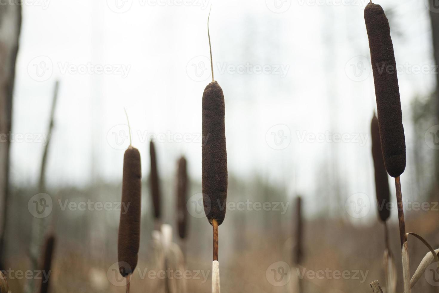
[[[439,65],[439,6],[437,0],[430,0],[430,18],[432,21],[433,54],[435,64]],[[434,103],[436,105],[435,121],[439,124],[439,74],[436,74],[436,90],[434,93]],[[433,104],[434,105],[434,104]],[[434,194],[438,190],[439,182],[439,152],[435,152],[435,181]]]

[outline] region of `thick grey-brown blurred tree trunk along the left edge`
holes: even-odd
[[[4,269],[4,235],[9,195],[9,133],[21,22],[21,5],[11,2],[0,5],[0,269]]]

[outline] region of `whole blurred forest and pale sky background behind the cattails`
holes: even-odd
[[[117,261],[119,210],[62,210],[58,202],[120,201],[123,151],[129,144],[124,107],[143,172],[138,267],[156,265],[152,134],[158,137],[162,222],[175,227],[176,162],[184,155],[191,217],[188,238],[178,239],[175,231],[174,241],[188,270],[211,269],[211,226],[197,214],[195,199],[201,193],[201,99],[210,79],[206,21],[212,4],[214,73],[226,102],[228,201],[279,203],[280,209],[227,210],[219,228],[223,292],[292,292],[292,281],[275,286],[266,271],[283,261],[295,274],[297,195],[303,199],[302,266],[367,272],[363,282],[361,277],[305,279],[303,291],[371,292],[371,281],[384,281],[384,232],[371,157],[375,98],[363,19],[367,2],[2,1],[0,134],[7,139],[0,142],[0,269],[34,268],[41,242],[35,239],[51,229],[58,239],[52,292],[124,292],[108,277]],[[401,66],[407,142],[403,196],[435,207],[406,211],[407,231],[437,248],[439,7],[435,0],[376,3],[389,18]],[[266,71],[258,72],[258,66]],[[178,141],[184,134],[187,141]],[[337,141],[334,134],[345,139]],[[52,200],[43,226],[35,224],[29,208],[40,193]],[[349,204],[363,195],[366,209],[357,214]],[[396,210],[391,217],[400,272]],[[411,274],[425,253],[422,244],[410,244]],[[32,280],[8,282],[13,293],[32,291]],[[152,292],[157,282],[134,275],[132,292]],[[210,286],[210,277],[190,279],[188,292],[209,292]],[[414,289],[437,291],[425,279]]]

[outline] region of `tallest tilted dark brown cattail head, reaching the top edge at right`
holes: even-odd
[[[406,142],[389,22],[381,6],[372,3],[364,9],[364,20],[371,50],[385,168],[390,176],[397,177],[406,168]]]

